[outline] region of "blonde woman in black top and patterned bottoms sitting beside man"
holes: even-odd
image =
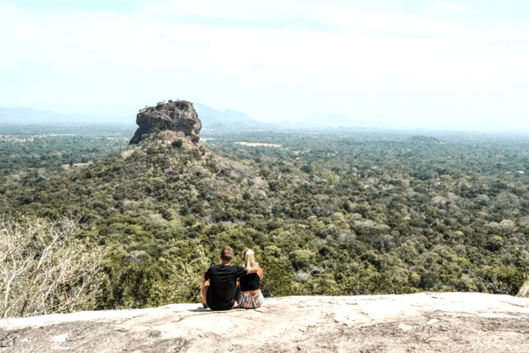
[[[262,305],[264,297],[261,293],[262,268],[256,262],[256,254],[247,249],[242,252],[245,258],[245,268],[258,268],[257,273],[245,274],[239,279],[240,292],[237,293],[239,307],[255,309]]]

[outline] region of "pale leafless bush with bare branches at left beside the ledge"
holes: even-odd
[[[0,221],[0,317],[94,307],[103,288],[102,254],[76,239],[71,219]]]

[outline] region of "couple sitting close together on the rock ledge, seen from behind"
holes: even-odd
[[[261,306],[262,268],[250,249],[242,252],[242,256],[245,258],[244,267],[232,266],[234,250],[227,246],[220,252],[220,265],[212,265],[202,276],[200,294],[205,308],[217,311],[230,310],[236,305],[245,309]]]

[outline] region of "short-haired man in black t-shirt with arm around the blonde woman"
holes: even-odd
[[[211,310],[230,310],[234,307],[236,283],[240,276],[249,273],[256,273],[256,268],[243,268],[232,266],[231,259],[234,257],[234,250],[229,246],[220,252],[220,265],[211,265],[204,276],[200,287],[201,301],[204,307]]]

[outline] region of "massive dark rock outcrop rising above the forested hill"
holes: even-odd
[[[169,103],[158,103],[154,107],[143,108],[136,116],[136,123],[138,130],[130,140],[130,144],[139,143],[154,128],[181,131],[195,145],[200,141],[202,122],[198,119],[193,103],[189,101],[169,101]]]

